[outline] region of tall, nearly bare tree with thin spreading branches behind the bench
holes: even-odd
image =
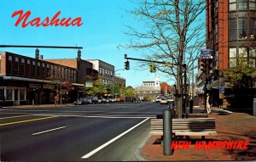
[[[131,42],[125,47],[142,50],[146,59],[166,62],[157,69],[174,77],[178,93],[183,94],[183,64],[193,70],[205,44],[205,0],[144,0],[137,5],[129,12],[141,26],[127,25],[125,34],[131,36]],[[178,101],[179,118],[182,100]]]

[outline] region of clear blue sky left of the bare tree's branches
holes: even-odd
[[[129,42],[125,25],[139,26],[139,22],[125,10],[137,8],[129,0],[1,0],[0,1],[0,44],[4,45],[42,45],[42,46],[79,46],[82,49],[82,59],[101,59],[115,66],[115,70],[124,69],[124,54],[128,57],[143,58],[138,52],[118,48],[120,44]],[[48,26],[35,27],[15,26],[18,18],[11,15],[17,11],[32,12],[29,20],[46,16],[53,17],[61,11],[59,18],[82,18],[83,25],[77,26]],[[72,59],[77,57],[74,49],[46,49],[40,48],[44,59]],[[34,57],[34,48],[1,48]],[[155,74],[148,70],[137,70],[138,63],[130,61],[131,70],[119,70],[119,76],[126,79],[126,86],[140,86],[145,79],[154,79]],[[160,81],[173,84],[169,78],[160,75]]]

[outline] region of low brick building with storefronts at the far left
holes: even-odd
[[[20,105],[54,103],[55,94],[72,101],[76,95],[78,70],[43,59],[15,53],[0,53],[0,103]]]

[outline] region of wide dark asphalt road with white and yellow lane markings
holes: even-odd
[[[0,109],[1,161],[137,160],[159,103]]]

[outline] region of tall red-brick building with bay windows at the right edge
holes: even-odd
[[[207,92],[213,104],[218,104],[219,98],[231,92],[223,70],[236,66],[241,53],[245,62],[253,62],[252,68],[256,67],[256,1],[207,0],[207,49],[212,50],[212,59],[206,63],[207,75],[199,75],[198,81],[207,78]],[[225,92],[219,87],[225,87]]]

